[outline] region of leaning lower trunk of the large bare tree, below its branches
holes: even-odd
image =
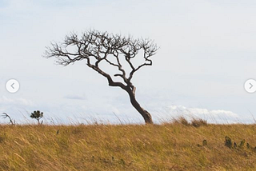
[[[144,121],[146,124],[153,124],[152,117],[146,109],[143,109],[141,105],[139,105],[138,101],[135,98],[135,93],[133,93],[132,90],[126,89],[127,93],[130,97],[130,102],[134,106],[135,109],[137,109],[138,113],[141,113],[142,117],[144,118]]]

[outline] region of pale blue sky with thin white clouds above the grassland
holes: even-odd
[[[137,98],[155,122],[178,116],[254,123],[256,2],[0,0],[0,113],[18,123],[143,123],[122,89],[85,62],[58,66],[42,58],[50,42],[95,29],[150,38],[160,47],[153,66],[134,75]],[[6,82],[20,83],[17,93]],[[0,123],[8,123],[1,118]]]

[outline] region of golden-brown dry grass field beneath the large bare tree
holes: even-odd
[[[255,146],[256,125],[0,125],[0,170],[256,170]]]

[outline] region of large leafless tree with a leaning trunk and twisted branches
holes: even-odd
[[[108,34],[98,30],[89,30],[78,38],[78,34],[66,35],[64,42],[51,43],[47,47],[44,57],[56,58],[56,62],[62,66],[68,66],[74,62],[86,60],[86,65],[105,77],[110,86],[118,86],[124,89],[130,97],[130,102],[142,115],[148,124],[153,123],[152,117],[146,109],[143,109],[135,98],[136,87],[133,85],[134,74],[143,66],[152,66],[150,59],[158,46],[152,40],[134,39],[123,37],[120,34]],[[142,59],[142,63],[135,65],[134,58]],[[102,64],[107,64],[116,69],[116,74],[110,74],[103,69]],[[128,66],[128,68],[125,66]],[[114,79],[120,78],[117,81]]]

